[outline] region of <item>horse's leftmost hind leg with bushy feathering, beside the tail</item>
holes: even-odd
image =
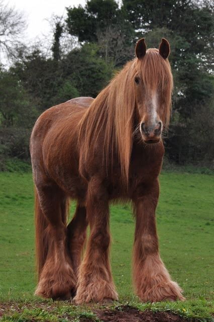
[[[46,257],[39,265],[39,283],[35,294],[45,298],[68,299],[71,292],[75,291],[76,277],[67,251],[66,220],[65,213],[62,213],[66,211],[66,197],[54,185],[39,185],[37,193],[41,211],[36,216],[44,216],[46,221],[44,231],[38,231],[42,229],[36,219],[37,244],[40,245],[37,253],[45,252]],[[40,254],[37,256],[41,257]]]

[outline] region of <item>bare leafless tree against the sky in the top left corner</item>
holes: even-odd
[[[0,0],[0,54],[15,57],[22,44],[26,22],[22,13]]]

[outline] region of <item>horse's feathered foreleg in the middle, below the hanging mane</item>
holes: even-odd
[[[108,193],[97,178],[91,179],[88,184],[86,210],[90,236],[78,273],[74,301],[79,304],[118,298],[109,260]]]

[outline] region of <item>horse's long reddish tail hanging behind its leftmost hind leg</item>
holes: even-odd
[[[69,200],[64,198],[61,202],[62,222],[66,225],[69,213]],[[35,189],[35,228],[36,228],[36,268],[38,276],[42,271],[48,255],[49,233],[47,231],[48,221],[42,212],[39,196]]]

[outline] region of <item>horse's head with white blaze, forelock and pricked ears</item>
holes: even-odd
[[[170,46],[162,38],[159,49],[146,50],[144,38],[136,45],[136,107],[140,132],[145,143],[157,143],[170,117],[173,78],[168,55]]]

